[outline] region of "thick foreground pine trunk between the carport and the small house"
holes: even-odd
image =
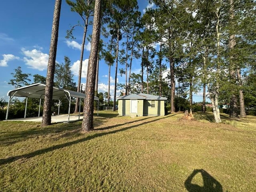
[[[86,132],[93,130],[94,88],[100,40],[100,12],[101,0],[95,0],[94,19],[92,28],[92,43],[88,62],[89,70],[86,82],[86,98],[84,99],[84,118],[82,122],[82,131]]]

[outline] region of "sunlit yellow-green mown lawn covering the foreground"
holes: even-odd
[[[100,112],[89,133],[2,121],[0,191],[256,191],[256,118],[182,116]]]

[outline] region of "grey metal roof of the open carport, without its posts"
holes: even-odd
[[[45,87],[46,87],[45,84],[36,83],[36,84],[21,87],[21,88],[17,88],[14,90],[10,90],[7,93],[7,95],[10,97],[17,96],[17,97],[28,97],[28,98],[44,98]],[[53,87],[52,99],[59,100],[60,98],[63,98],[66,96],[85,98],[84,93]],[[99,100],[99,98],[94,97],[94,100]]]

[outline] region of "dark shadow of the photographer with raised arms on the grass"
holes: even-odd
[[[201,173],[204,186],[192,184],[196,174]],[[203,169],[195,169],[184,183],[188,192],[223,192],[221,184]]]

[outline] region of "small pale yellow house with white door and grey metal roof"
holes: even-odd
[[[122,116],[164,116],[166,97],[150,94],[129,94],[118,99],[118,114]]]

